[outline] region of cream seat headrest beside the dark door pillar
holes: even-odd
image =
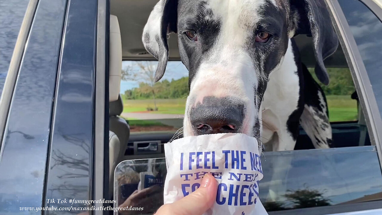
[[[109,101],[116,101],[120,93],[122,71],[121,31],[117,16],[110,15]]]

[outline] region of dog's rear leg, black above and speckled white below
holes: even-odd
[[[312,78],[305,65],[304,72],[304,111],[300,118],[301,127],[312,140],[315,148],[330,148],[332,127],[329,122],[328,106],[324,91]]]

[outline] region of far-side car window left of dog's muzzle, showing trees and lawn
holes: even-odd
[[[188,70],[169,61],[160,81],[154,82],[157,61],[123,61],[121,117],[131,132],[176,131],[183,126],[188,95]]]

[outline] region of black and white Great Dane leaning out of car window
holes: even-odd
[[[338,39],[324,0],[160,0],[142,35],[159,60],[155,81],[170,33],[189,71],[185,136],[240,132],[273,151],[293,150],[301,124],[316,148],[330,147],[325,95],[293,39],[312,36],[315,72],[328,84],[323,60]]]

